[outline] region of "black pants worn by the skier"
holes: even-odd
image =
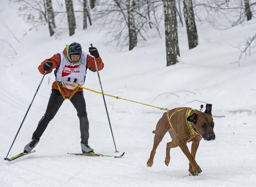
[[[46,113],[43,115],[42,119],[38,123],[38,127],[33,133],[32,138],[37,140],[40,139],[44,130],[46,130],[47,125],[51,119],[56,115],[59,107],[63,103],[64,99],[61,96],[59,90],[52,89],[52,93],[48,102]],[[88,144],[89,139],[89,121],[86,113],[86,105],[83,97],[83,92],[77,92],[71,98],[71,103],[74,105],[77,116],[80,120],[80,132],[81,132],[81,143]]]

